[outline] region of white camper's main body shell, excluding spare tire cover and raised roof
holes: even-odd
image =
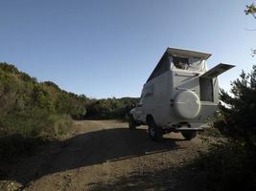
[[[216,79],[214,83],[214,90],[216,90],[213,90],[214,101],[200,101],[201,109],[196,118],[184,119],[175,113],[172,100],[184,90],[194,91],[200,96],[199,73],[196,75],[187,71],[170,70],[151,79],[144,85],[140,112],[134,117],[141,123],[147,124],[147,116],[151,115],[156,125],[162,127],[172,127],[181,122],[188,122],[192,128],[202,125],[206,127],[207,119],[212,117],[218,109],[218,80]]]

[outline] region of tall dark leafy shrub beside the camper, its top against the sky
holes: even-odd
[[[232,96],[221,90],[221,100],[230,108],[221,107],[221,117],[215,126],[225,136],[253,141],[256,136],[256,66],[250,74],[242,72],[231,85]]]

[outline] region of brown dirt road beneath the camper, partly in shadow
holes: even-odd
[[[189,162],[203,150],[200,138],[170,134],[153,142],[147,127],[128,130],[114,120],[76,121],[66,143],[10,167],[7,190],[198,190]],[[13,182],[14,183],[10,183]],[[2,180],[3,183],[3,180]]]

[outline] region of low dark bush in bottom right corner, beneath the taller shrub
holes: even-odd
[[[240,140],[219,139],[200,154],[199,168],[207,174],[207,190],[255,190],[255,147]]]

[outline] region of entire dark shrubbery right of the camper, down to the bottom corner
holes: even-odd
[[[214,122],[222,138],[210,144],[198,164],[207,172],[209,190],[255,190],[256,66],[231,85],[231,96],[221,90],[221,100],[229,107],[222,106]]]

